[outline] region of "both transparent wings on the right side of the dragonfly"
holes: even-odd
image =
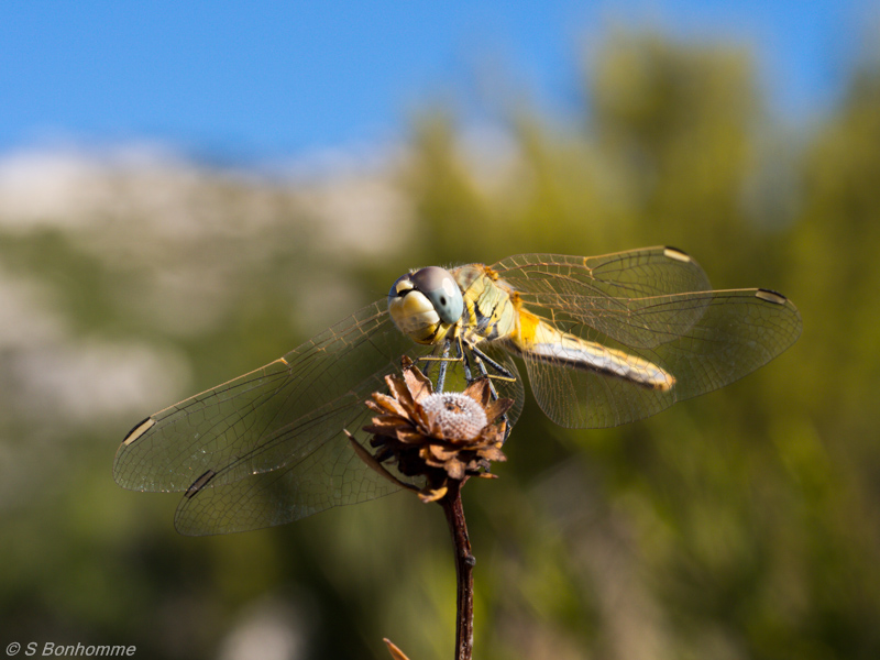
[[[548,323],[674,378],[668,388],[646,387],[573,369],[562,349],[526,353],[536,399],[553,421],[604,428],[642,419],[723,387],[794,343],[801,318],[791,301],[765,289],[706,290],[702,268],[681,254],[658,248],[586,260],[519,255],[497,265],[524,306]],[[694,285],[704,288],[682,290]]]

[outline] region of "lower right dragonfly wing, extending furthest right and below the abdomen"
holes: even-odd
[[[631,355],[634,364],[647,360],[671,374],[674,385],[649,388],[596,370],[572,369],[562,351],[556,358],[526,353],[535,396],[553,421],[604,428],[642,419],[751,373],[794,343],[802,327],[794,305],[765,289],[657,296],[639,300],[631,316],[661,340],[652,348],[632,346],[586,323],[561,329]]]

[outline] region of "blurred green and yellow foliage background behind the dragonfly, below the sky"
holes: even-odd
[[[21,374],[68,369],[89,392],[103,372],[77,371],[78,355],[116,346],[98,363],[119,366],[154,351],[178,365],[150,395],[158,408],[271,361],[411,266],[671,244],[716,288],[783,292],[804,334],[761,372],[627,427],[564,430],[527,399],[502,479],[464,491],[477,657],[880,657],[880,70],[855,72],[800,132],[768,120],[749,54],[729,47],[618,35],[585,86],[569,124],[509,109],[497,152],[465,142],[449,110],[421,116],[383,175],[408,209],[376,234],[404,237],[387,250],[322,234],[308,184],[215,175],[185,209],[156,205],[195,229],[125,209],[0,223],[0,270],[51,327],[0,352],[0,641],[243,658],[232,632],[272,610],[305,640],[298,657],[385,657],[384,636],[414,660],[449,657],[438,507],[395,495],[182,538],[176,496],[110,476],[153,408],[77,417]]]

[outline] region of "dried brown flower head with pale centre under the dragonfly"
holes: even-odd
[[[352,438],[358,454],[374,470],[394,479],[382,463],[395,461],[406,476],[427,477],[419,492],[424,502],[446,495],[449,480],[493,477],[492,461],[505,461],[501,450],[507,422],[502,416],[509,398],[492,400],[488,378],[471,383],[464,392],[433,392],[431,381],[403,360],[403,376],[385,376],[389,394],[373,393],[366,405],[376,413],[364,430],[373,433],[370,454]],[[351,436],[349,436],[351,438]]]

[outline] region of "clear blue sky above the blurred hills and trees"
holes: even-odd
[[[0,154],[155,140],[258,161],[383,142],[493,70],[564,114],[584,44],[612,26],[749,45],[773,112],[804,121],[876,41],[878,4],[3,0]]]

